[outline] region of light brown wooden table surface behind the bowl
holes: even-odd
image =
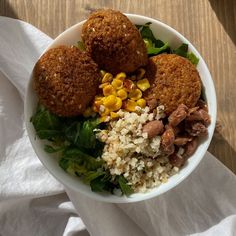
[[[236,173],[236,1],[0,0],[0,15],[27,21],[54,38],[103,7],[159,19],[196,46],[209,66],[218,97],[221,127],[209,151]]]

